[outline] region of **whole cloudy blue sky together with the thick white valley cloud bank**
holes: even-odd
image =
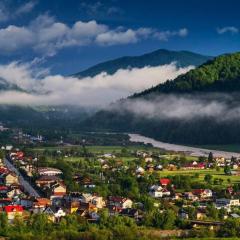
[[[107,105],[193,66],[119,69],[81,81],[96,63],[159,48],[239,51],[238,0],[0,0],[0,104]]]

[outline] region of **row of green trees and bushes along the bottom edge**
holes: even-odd
[[[215,209],[209,208],[208,211],[212,216],[219,214]],[[46,214],[33,214],[25,218],[16,217],[10,224],[7,216],[0,213],[0,237],[10,240],[160,240],[161,232],[159,231],[158,235],[151,235],[151,230],[156,232],[177,229],[177,226],[184,229],[184,235],[198,239],[240,237],[239,219],[225,220],[224,225],[218,230],[204,227],[195,230],[189,228],[188,220],[177,219],[172,210],[163,213],[159,210],[152,211],[146,219],[146,225],[149,225],[147,228],[138,226],[135,220],[129,217],[109,217],[105,210],[100,215],[98,223],[89,223],[76,214],[67,215],[53,223]]]

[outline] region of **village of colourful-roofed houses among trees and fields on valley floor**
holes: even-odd
[[[73,150],[56,151],[55,158],[67,164],[72,159],[75,170],[82,166],[83,171],[73,171],[69,179],[64,164],[58,168],[40,154],[2,147],[0,212],[9,223],[32,214],[44,214],[53,223],[71,214],[98,223],[107,212],[109,217],[124,216],[139,226],[156,227],[153,210],[164,215],[171,209],[172,222],[163,229],[178,229],[176,222],[182,221],[185,229],[218,231],[226,219],[240,219],[237,158],[212,153],[193,158],[137,148],[101,154],[83,150],[85,157],[78,165]]]

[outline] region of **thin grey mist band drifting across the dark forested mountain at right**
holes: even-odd
[[[211,118],[218,122],[240,118],[238,93],[161,94],[149,99],[128,99],[112,104],[107,110],[134,114],[139,119],[191,120]]]

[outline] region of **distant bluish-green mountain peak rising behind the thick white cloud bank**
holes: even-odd
[[[118,69],[143,68],[145,66],[160,66],[177,62],[177,66],[186,67],[189,65],[199,66],[212,59],[210,56],[189,52],[189,51],[169,51],[159,49],[157,51],[147,53],[141,56],[126,56],[111,61],[99,63],[82,72],[74,74],[79,78],[87,76],[95,76],[101,72],[108,74],[115,73]]]

